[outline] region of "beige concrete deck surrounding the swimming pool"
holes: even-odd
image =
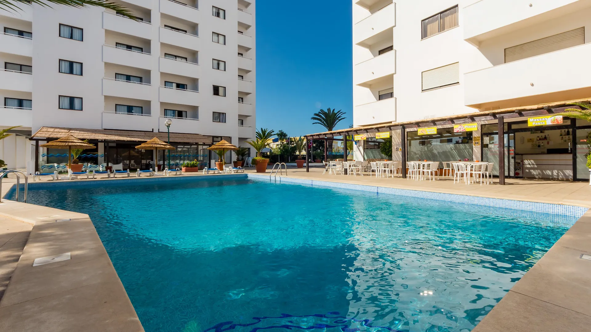
[[[451,180],[323,175],[320,168],[311,168],[309,173],[290,168],[288,177],[591,207],[589,183],[509,179],[505,186],[480,186],[453,184]],[[14,178],[5,179],[3,196],[10,182],[14,183]],[[71,220],[56,222],[63,219]],[[4,268],[4,259],[12,259],[14,269],[11,273],[7,268],[5,274],[4,269],[0,271],[0,286],[3,276],[12,274],[0,300],[0,321],[8,331],[143,330],[86,214],[7,201],[0,203],[3,229],[7,230],[0,232],[0,262]],[[34,258],[65,252],[72,253],[70,261],[32,266]],[[591,211],[558,240],[473,331],[589,331],[591,261],[580,259],[582,254],[591,255]],[[20,258],[14,267],[15,256]]]

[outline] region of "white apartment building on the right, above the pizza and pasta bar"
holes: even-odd
[[[560,104],[591,97],[589,0],[353,0],[352,42],[355,127]],[[584,138],[591,123],[565,119],[564,128],[554,128],[556,133],[549,129],[542,133],[545,135],[541,138],[548,142],[540,148],[534,147],[535,133],[527,129],[527,124],[522,128],[526,118],[511,121],[515,122],[505,131],[509,135],[509,176],[527,176],[527,171],[520,167],[537,158],[532,155],[569,155],[574,148],[573,162],[578,162],[575,154],[586,152],[586,143],[579,136]],[[487,148],[498,143],[492,135],[485,137],[488,123],[491,122],[478,121],[477,131],[469,136],[461,134],[469,142],[466,151],[470,160],[485,160]],[[425,157],[413,154],[413,149],[416,152],[418,148],[440,148],[440,141],[444,144],[444,129],[452,128],[453,134],[453,123],[431,125],[438,129],[431,137],[417,135],[416,128],[405,129],[408,160]],[[576,136],[573,129],[577,129]],[[572,139],[556,143],[554,134],[562,137],[567,130]],[[519,134],[526,131],[527,135]],[[476,147],[480,137],[472,148],[472,135],[482,136],[483,151]],[[400,131],[392,131],[398,145],[400,137]],[[576,147],[571,147],[575,141]],[[458,141],[450,138],[449,142],[450,147],[459,147]],[[369,147],[356,145],[356,160],[363,158],[364,146]],[[399,148],[394,158],[399,153],[396,151]],[[457,157],[457,153],[447,154],[441,160],[458,160],[452,157]],[[579,159],[583,162],[574,178],[589,178],[584,158]],[[569,170],[564,171],[557,177],[569,178]],[[570,168],[570,178],[572,172]]]

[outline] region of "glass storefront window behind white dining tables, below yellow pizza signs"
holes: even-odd
[[[407,160],[473,160],[472,133],[454,134],[453,128],[438,129],[436,135],[408,132]]]

